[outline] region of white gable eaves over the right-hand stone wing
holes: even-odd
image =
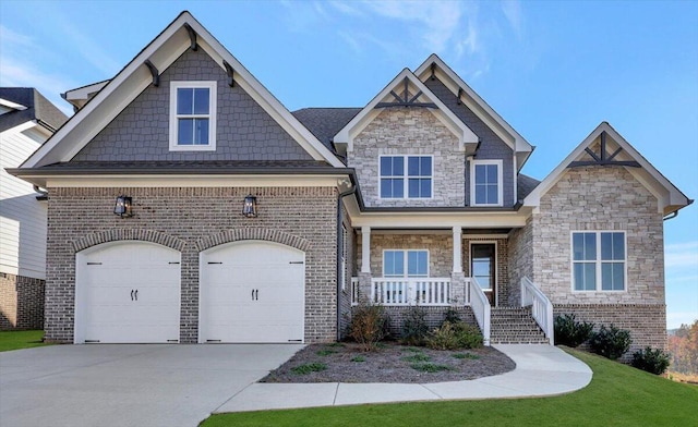
[[[638,180],[647,190],[649,190],[658,199],[658,209],[666,216],[686,207],[693,203],[686,197],[674,184],[672,184],[660,171],[658,171],[642,155],[640,155],[619,133],[616,132],[607,122],[602,122],[594,129],[585,141],[575,148],[541,183],[524,199],[524,206],[540,206],[541,197],[547,193],[557,181],[563,176],[568,166],[585,156],[586,149],[594,144],[603,133],[612,139],[621,150],[615,157],[617,161],[626,163],[637,162],[639,168],[625,167],[623,164],[615,167],[625,167],[633,176]],[[613,157],[613,156],[611,156]]]

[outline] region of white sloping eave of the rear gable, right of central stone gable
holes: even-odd
[[[512,127],[502,117],[492,109],[468,84],[460,78],[450,66],[432,53],[417,68],[414,74],[424,82],[431,78],[432,73],[470,109],[480,120],[482,120],[492,131],[497,134],[516,152],[517,167],[521,170],[526,160],[533,151],[534,147],[524,138],[514,127]]]

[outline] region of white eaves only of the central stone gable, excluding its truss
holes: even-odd
[[[458,144],[462,150],[474,148],[478,145],[476,135],[466,123],[450,111],[417,76],[408,69],[402,70],[383,90],[378,93],[357,115],[349,121],[334,137],[335,145],[346,145],[347,150],[353,146],[353,137],[361,132],[382,111],[386,103],[394,100],[395,90],[402,90],[406,85],[412,86],[416,91],[411,100],[422,103],[432,103],[429,108],[434,115],[458,137]],[[406,99],[408,98],[405,95]],[[385,102],[388,101],[388,102]],[[420,107],[421,108],[421,107]],[[468,146],[468,147],[466,147]]]

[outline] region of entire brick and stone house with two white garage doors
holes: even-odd
[[[371,302],[394,328],[456,307],[488,342],[576,313],[664,345],[663,219],[690,200],[607,123],[539,182],[436,56],[291,113],[188,12],[65,98],[11,170],[49,194],[50,340],[328,342]]]

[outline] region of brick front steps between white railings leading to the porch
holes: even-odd
[[[549,344],[547,338],[531,316],[530,307],[492,307],[490,342],[492,344]]]

